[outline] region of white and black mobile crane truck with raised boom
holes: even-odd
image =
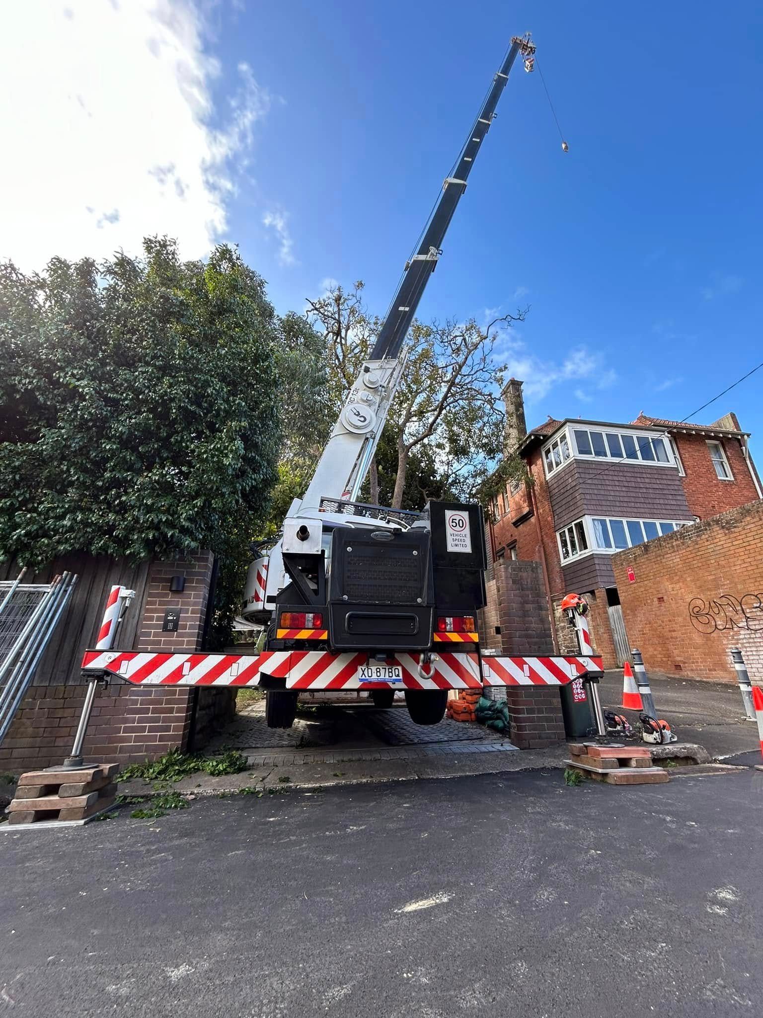
[[[258,685],[267,724],[289,728],[301,691],[364,689],[377,706],[391,706],[403,690],[412,721],[432,725],[445,715],[449,690],[481,688],[483,674],[491,684],[560,684],[597,667],[588,658],[481,661],[477,611],[487,563],[478,505],[431,501],[409,512],[357,501],[448,226],[516,58],[532,71],[534,53],[529,33],[512,39],[307,491],[292,503],[280,540],[249,567],[242,616],[265,629],[262,649],[95,649],[85,654],[85,672],[151,685]]]

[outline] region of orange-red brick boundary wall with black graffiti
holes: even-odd
[[[763,502],[619,552],[612,566],[647,672],[733,681],[739,646],[763,682]]]

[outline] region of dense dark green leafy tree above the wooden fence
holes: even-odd
[[[308,328],[235,248],[0,266],[0,558],[240,565],[277,480],[279,381]]]

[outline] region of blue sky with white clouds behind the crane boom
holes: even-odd
[[[28,39],[24,6],[13,14],[18,40]],[[527,383],[531,423],[548,413],[629,420],[642,409],[681,418],[763,359],[759,5],[103,7],[96,17],[83,0],[62,2],[50,52],[39,26],[32,56],[19,51],[16,95],[33,57],[48,76],[37,106],[19,113],[26,136],[60,93],[84,110],[76,148],[87,158],[48,211],[39,161],[2,181],[19,227],[1,254],[39,261],[67,244],[92,250],[93,238],[129,249],[141,231],[166,229],[197,257],[225,237],[281,310],[301,309],[332,278],[364,280],[383,312],[510,37],[529,29],[570,153],[539,75],[517,65],[421,317],[481,320],[531,304],[502,349]],[[12,32],[6,41],[18,49]],[[91,59],[100,84],[89,92],[93,74],[75,78]],[[65,87],[50,89],[52,60],[69,61]],[[22,257],[24,186],[40,229]],[[763,460],[762,384],[763,371],[693,419],[735,409]]]

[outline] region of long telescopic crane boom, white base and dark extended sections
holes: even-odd
[[[442,253],[441,244],[466,189],[467,178],[484,136],[495,116],[495,107],[521,53],[526,68],[535,52],[530,34],[515,36],[501,69],[477,115],[453,171],[443,183],[443,192],[423,230],[417,252],[406,264],[402,282],[390,304],[370,358],[362,365],[354,386],[318,460],[302,509],[316,509],[321,498],[355,500],[365,479],[390,405],[404,370],[403,343],[429,276]],[[529,68],[528,68],[529,69]]]

